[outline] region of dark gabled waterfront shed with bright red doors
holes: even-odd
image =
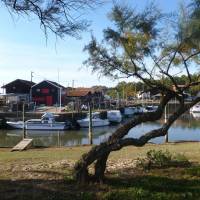
[[[60,105],[63,103],[65,88],[53,81],[44,80],[31,87],[31,100],[37,105]]]

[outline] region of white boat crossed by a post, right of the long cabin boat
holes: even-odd
[[[92,127],[108,126],[110,124],[108,119],[101,119],[99,115],[99,112],[92,113]],[[85,119],[77,120],[78,124],[82,128],[89,127],[89,121],[89,114]]]

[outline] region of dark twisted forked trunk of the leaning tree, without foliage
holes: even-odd
[[[157,119],[160,119],[163,114],[164,107],[166,106],[167,102],[170,99],[171,99],[170,96],[168,97],[165,96],[156,112],[147,113],[142,116],[138,116],[134,120],[131,120],[127,124],[117,129],[115,133],[109,137],[107,142],[104,142],[98,146],[92,147],[92,149],[88,153],[84,154],[81,157],[81,159],[76,163],[75,168],[74,168],[74,175],[75,175],[75,179],[77,183],[85,184],[91,180],[103,182],[104,172],[106,169],[106,162],[107,162],[110,152],[120,150],[121,148],[125,146],[130,146],[130,145],[141,147],[153,138],[166,135],[166,133],[168,132],[173,122],[178,117],[180,117],[184,112],[186,112],[189,108],[191,108],[194,104],[200,101],[200,97],[199,97],[199,98],[196,98],[195,101],[193,101],[192,103],[188,105],[185,105],[184,101],[180,102],[180,106],[177,109],[177,111],[174,112],[169,117],[167,122],[161,128],[152,130],[142,135],[138,139],[136,138],[123,139],[123,137],[128,133],[128,131],[132,127],[135,127],[136,125],[142,122],[155,121]],[[88,173],[88,167],[95,161],[96,161],[95,168],[94,168],[95,173],[94,173],[94,176],[92,176],[92,175],[89,175]]]

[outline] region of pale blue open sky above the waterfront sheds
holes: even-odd
[[[147,0],[120,1],[136,8],[143,7]],[[174,11],[181,0],[157,0],[159,7],[168,12]],[[102,38],[102,30],[110,24],[107,14],[112,7],[107,3],[83,15],[91,26],[81,34],[82,39],[66,36],[63,40],[49,34],[46,41],[39,21],[26,16],[12,17],[0,1],[0,87],[15,79],[31,79],[38,83],[44,79],[57,81],[64,86],[91,87],[93,85],[115,86],[119,81],[92,74],[83,66],[87,54],[84,46],[90,41],[91,31],[97,39]],[[131,81],[125,80],[125,81]],[[0,90],[1,92],[1,90]]]

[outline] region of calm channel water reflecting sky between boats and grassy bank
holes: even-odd
[[[163,120],[154,123],[145,123],[129,131],[127,137],[139,137],[147,131],[159,128]],[[117,126],[108,126],[93,129],[93,143],[99,144],[112,134]],[[0,147],[12,147],[22,139],[22,130],[0,130]],[[33,138],[35,146],[74,146],[88,144],[88,129],[67,131],[27,131],[27,135]],[[169,141],[186,140],[200,141],[200,114],[192,116],[186,114],[169,130]],[[164,137],[153,139],[151,142],[163,143]]]

